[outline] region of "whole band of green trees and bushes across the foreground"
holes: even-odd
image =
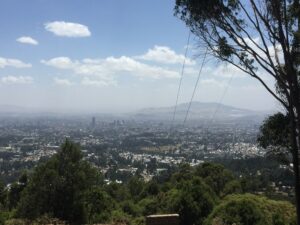
[[[296,224],[293,203],[258,194],[262,185],[217,163],[107,184],[67,140],[48,161],[0,185],[0,224],[144,224],[145,216],[162,213],[179,213],[184,225]]]

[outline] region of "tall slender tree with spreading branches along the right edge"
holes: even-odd
[[[300,225],[299,0],[176,0],[175,14],[208,54],[257,79],[289,115]],[[264,79],[276,81],[277,91]],[[279,90],[279,91],[278,91]]]

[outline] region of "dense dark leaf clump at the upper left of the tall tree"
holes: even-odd
[[[217,57],[228,60],[234,55],[241,55],[244,64],[253,68],[253,60],[237,51],[232,43],[232,36],[221,30],[230,30],[224,18],[230,18],[231,28],[239,33],[244,27],[244,19],[237,17],[240,12],[239,1],[221,0],[176,0],[175,15],[183,20],[191,31],[215,50]],[[222,22],[223,21],[223,22]],[[228,37],[229,36],[229,37]]]

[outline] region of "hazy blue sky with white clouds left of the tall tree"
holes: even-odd
[[[188,29],[174,0],[1,0],[0,105],[132,111],[174,105]],[[191,37],[179,102],[202,62]],[[278,104],[232,66],[210,61],[196,101],[270,110]],[[272,83],[272,80],[268,81]]]

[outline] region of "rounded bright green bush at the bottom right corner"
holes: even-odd
[[[295,208],[288,202],[251,194],[230,195],[215,207],[205,224],[291,225],[295,217]]]

